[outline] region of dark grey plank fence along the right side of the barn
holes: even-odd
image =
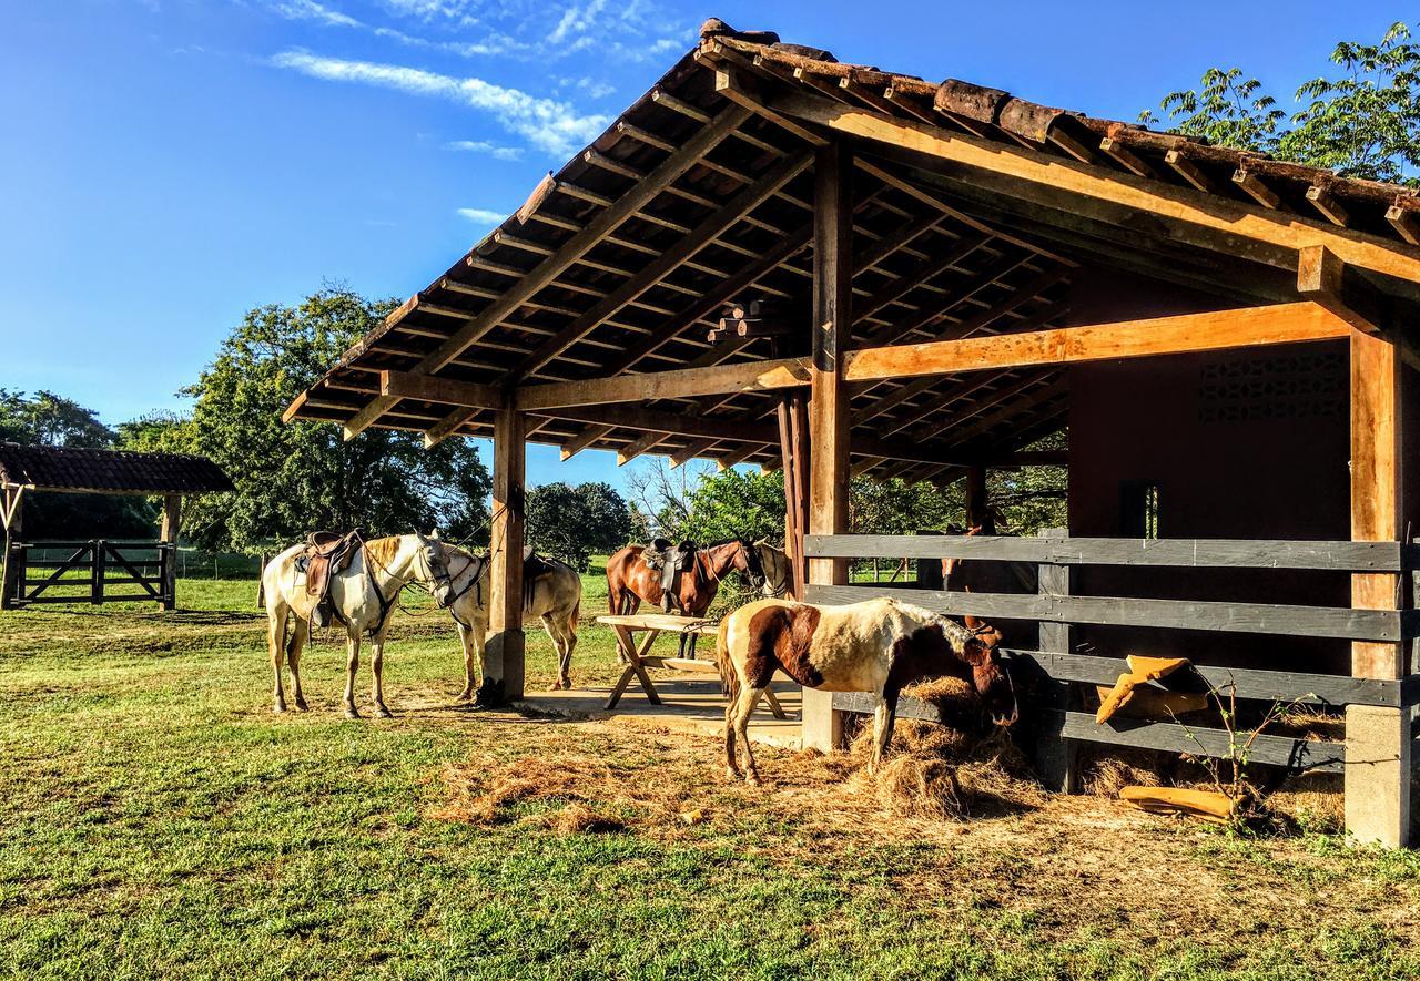
[[[1248,602],[1081,596],[1072,593],[1072,572],[1081,566],[1174,566],[1228,569],[1322,569],[1333,572],[1394,572],[1417,568],[1416,547],[1400,542],[1309,542],[1234,539],[1125,539],[1069,538],[1047,532],[1038,538],[961,535],[808,535],[809,558],[859,559],[906,557],[929,559],[978,559],[1022,562],[1038,566],[1035,593],[967,593],[930,588],[883,588],[858,583],[808,586],[816,603],[852,603],[873,596],[895,596],[949,615],[974,615],[984,620],[1015,619],[1039,623],[1038,650],[1008,650],[1004,657],[1012,676],[1028,677],[1038,698],[1030,706],[1030,724],[1038,744],[1038,764],[1049,784],[1069,788],[1074,779],[1071,745],[1075,741],[1108,742],[1173,752],[1230,755],[1231,735],[1224,728],[1184,727],[1177,723],[1115,718],[1096,725],[1092,713],[1078,710],[1072,686],[1113,684],[1126,673],[1122,657],[1078,654],[1074,625],[1109,625],[1187,630],[1265,633],[1275,636],[1332,637],[1404,643],[1420,636],[1416,610],[1373,610]],[[932,582],[929,574],[923,576]],[[940,582],[940,578],[937,579]],[[1319,706],[1384,706],[1400,708],[1420,703],[1420,676],[1373,680],[1288,670],[1255,670],[1198,666],[1196,673],[1170,681],[1228,689],[1240,700]],[[839,711],[872,711],[872,697],[836,694]],[[905,701],[905,717],[937,718],[932,706]],[[1282,735],[1261,735],[1250,758],[1296,769],[1338,772],[1345,764],[1345,744]]]

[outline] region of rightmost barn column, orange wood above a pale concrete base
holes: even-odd
[[[1400,352],[1389,341],[1350,332],[1350,537],[1397,541],[1402,532]],[[1394,574],[1356,574],[1352,606],[1396,609]],[[1399,679],[1400,643],[1352,645],[1355,677]],[[1403,708],[1346,708],[1346,831],[1362,842],[1402,846],[1410,838],[1410,724]]]

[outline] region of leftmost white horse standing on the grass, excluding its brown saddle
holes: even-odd
[[[305,696],[301,693],[301,649],[311,636],[311,615],[315,599],[305,595],[305,574],[297,569],[295,561],[305,545],[293,545],[277,555],[261,574],[267,605],[267,646],[271,653],[271,673],[275,676],[275,703],[273,711],[285,711],[285,696],[281,691],[283,654],[291,666],[291,694],[295,707],[305,711]],[[436,538],[423,535],[396,535],[364,542],[355,549],[351,564],[338,575],[331,576],[331,605],[335,618],[345,625],[345,717],[359,718],[355,708],[355,670],[359,667],[361,637],[369,635],[373,654],[371,657],[371,701],[375,714],[389,718],[385,707],[385,689],[381,670],[385,662],[385,635],[389,632],[390,613],[399,591],[405,583],[417,581],[429,585],[435,599],[447,599],[453,589],[444,562],[444,547]],[[287,637],[287,620],[295,619],[291,636]]]

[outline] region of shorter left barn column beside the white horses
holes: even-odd
[[[523,697],[524,420],[521,412],[500,409],[493,423],[493,588],[480,704]]]

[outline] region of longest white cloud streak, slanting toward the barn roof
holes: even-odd
[[[487,112],[508,132],[554,156],[567,156],[581,149],[611,122],[605,115],[584,115],[569,102],[540,98],[481,78],[454,78],[403,65],[322,58],[305,51],[284,51],[271,58],[271,64],[311,78],[392,88],[459,102]]]

